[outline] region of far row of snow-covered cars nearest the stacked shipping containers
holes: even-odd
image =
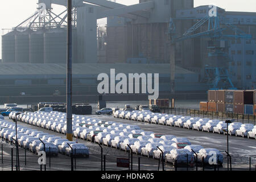
[[[208,131],[212,133],[225,134],[225,121],[218,119],[190,117],[174,114],[152,113],[150,110],[143,111],[120,111],[114,113],[115,118],[130,119],[133,121],[141,121],[155,123],[161,125],[169,125],[174,127],[183,127],[184,129],[192,129],[198,131]],[[256,126],[250,123],[243,124],[241,122],[229,123],[229,135],[236,135],[247,138],[256,139]]]

